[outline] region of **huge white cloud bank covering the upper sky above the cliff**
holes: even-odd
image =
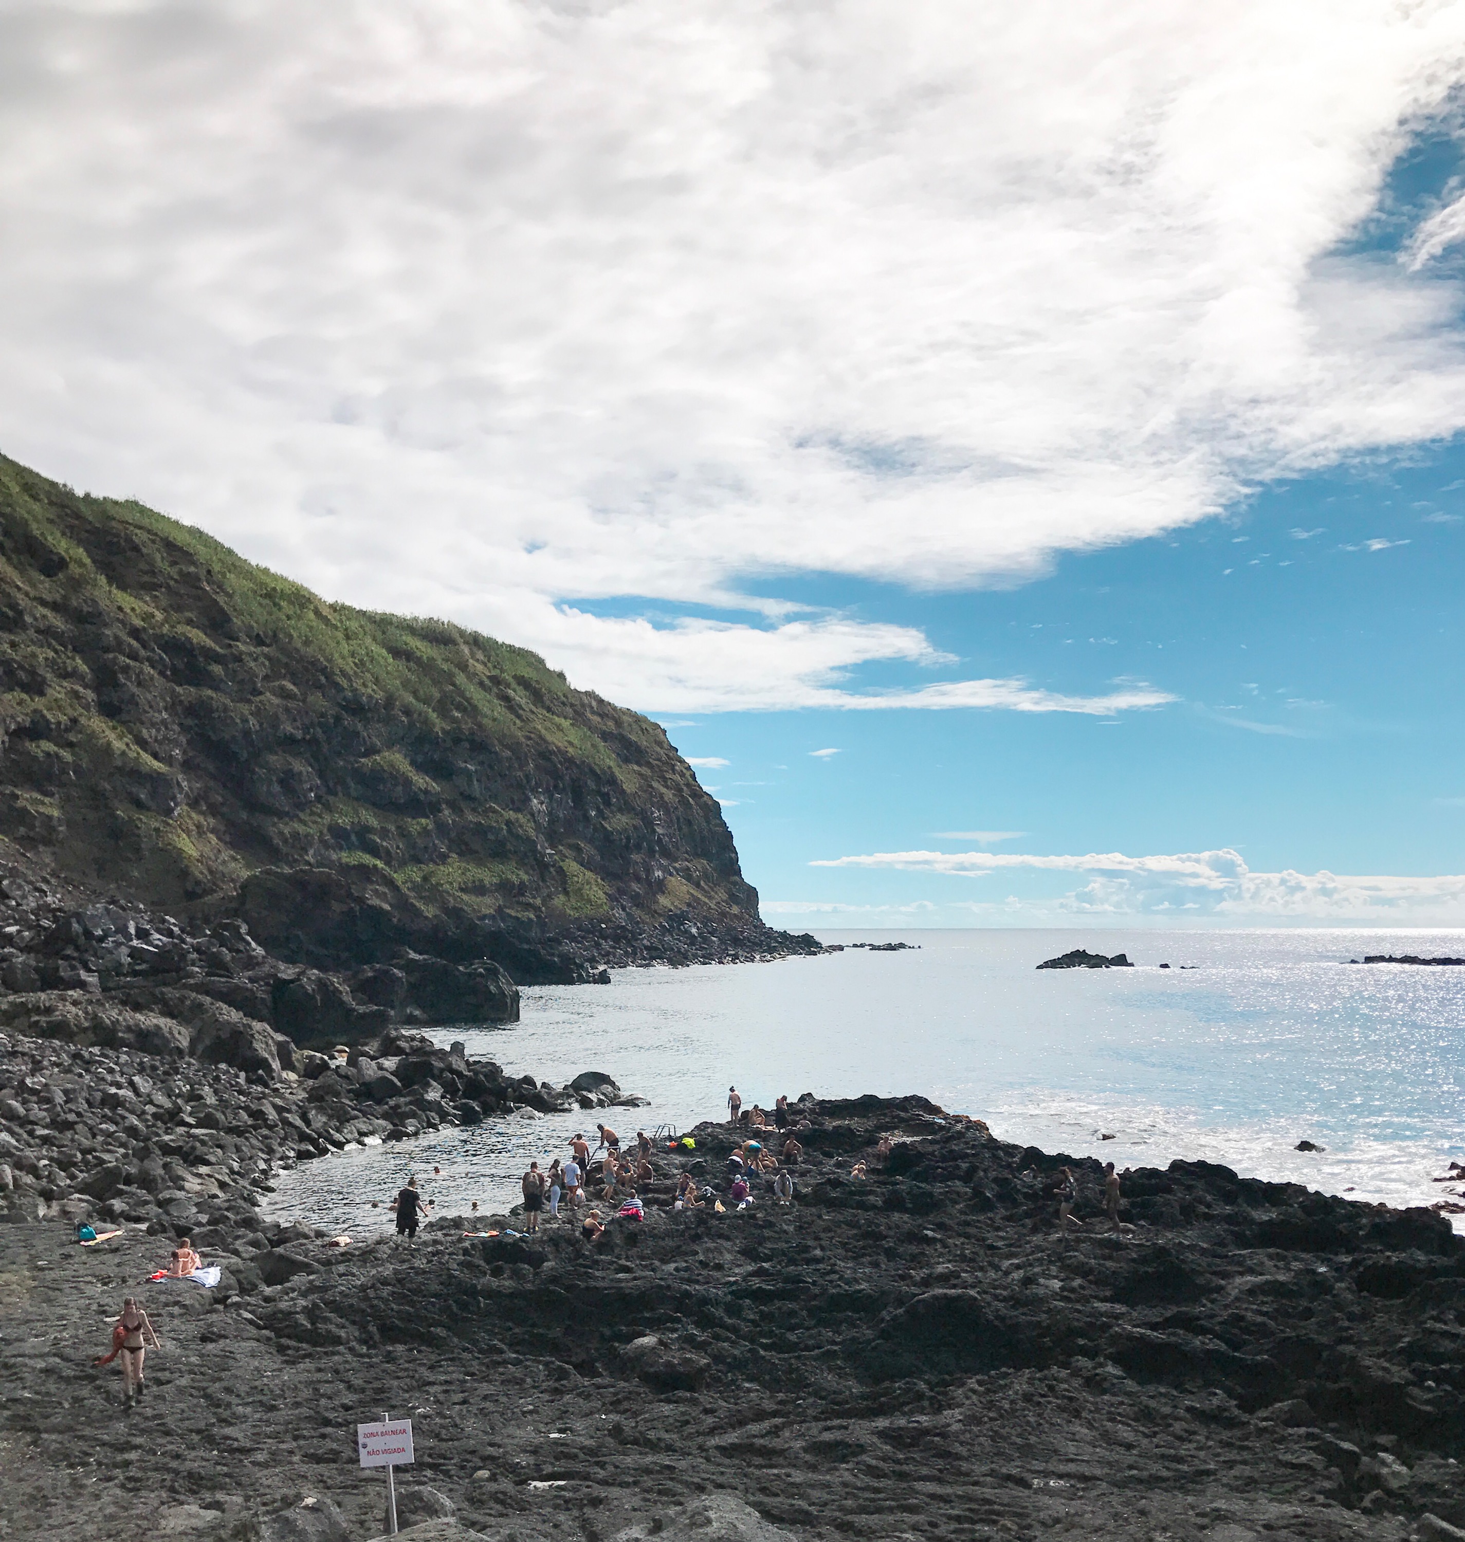
[[[5,449],[640,706],[1093,711],[840,689],[950,660],[739,586],[1021,577],[1457,432],[1460,205],[1335,248],[1462,79],[1442,3],[12,0]]]

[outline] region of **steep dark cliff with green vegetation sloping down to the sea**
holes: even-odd
[[[316,967],[409,947],[524,984],[811,947],[759,922],[658,725],[3,458],[0,836]]]

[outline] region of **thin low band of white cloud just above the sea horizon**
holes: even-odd
[[[885,868],[985,877],[1029,868],[1087,873],[1090,880],[1046,908],[1089,916],[1204,916],[1257,921],[1315,919],[1389,925],[1459,922],[1465,917],[1465,874],[1379,877],[1339,873],[1252,873],[1240,853],[1191,851],[1130,857],[1118,851],[1087,856],[1021,856],[993,851],[877,851],[811,862],[823,868]]]

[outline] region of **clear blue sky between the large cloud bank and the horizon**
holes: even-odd
[[[1066,911],[1072,873],[810,867],[984,848],[942,836],[959,831],[987,833],[998,853],[1231,848],[1266,873],[1451,874],[1465,870],[1462,578],[1465,447],[1380,458],[1266,489],[1172,537],[1066,557],[1005,591],[827,584],[808,595],[918,620],[968,672],[1078,695],[1140,677],[1172,692],[1170,705],[1112,719],[708,714],[668,717],[668,731],[685,754],[728,762],[699,776],[725,800],[780,925],[1200,919]],[[813,754],[830,748],[839,754]],[[1428,919],[1448,919],[1450,904]],[[1206,907],[1204,919],[1221,917]]]

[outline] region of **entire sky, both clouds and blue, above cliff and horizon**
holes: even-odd
[[[0,450],[657,717],[780,925],[1462,924],[1462,89],[1433,0],[0,0]]]

